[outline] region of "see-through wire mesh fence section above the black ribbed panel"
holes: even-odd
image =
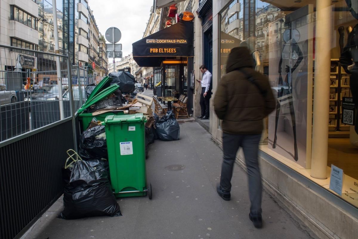
[[[56,58],[60,62],[60,75]],[[0,45],[0,142],[61,120],[60,102],[62,119],[72,116],[68,89],[71,85],[73,111],[81,107],[86,99],[87,71],[72,67],[67,59],[53,53]],[[81,71],[82,81],[78,78]]]

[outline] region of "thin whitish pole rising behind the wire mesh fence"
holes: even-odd
[[[52,0],[52,13],[53,13],[53,36],[55,40],[55,53],[60,53],[60,48],[58,46],[58,29],[57,29],[57,8],[56,0]],[[69,59],[67,59],[69,61]],[[63,114],[63,99],[62,99],[62,76],[61,76],[61,65],[60,58],[56,57],[56,67],[57,67],[57,77],[58,77],[58,94],[59,94],[59,104],[60,104],[60,119],[64,118]],[[72,79],[68,79],[72,81]]]

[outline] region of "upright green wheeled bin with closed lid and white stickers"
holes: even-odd
[[[116,197],[149,196],[145,170],[145,122],[143,114],[108,115],[106,126],[111,185]]]

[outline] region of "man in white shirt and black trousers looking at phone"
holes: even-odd
[[[200,66],[200,71],[203,73],[203,80],[199,80],[202,84],[202,91],[200,94],[200,107],[201,115],[197,118],[199,119],[209,119],[209,99],[210,99],[210,82],[211,82],[211,73],[208,71],[205,65]]]

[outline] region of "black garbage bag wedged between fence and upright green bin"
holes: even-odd
[[[83,160],[108,159],[105,126],[99,125],[83,131],[79,139],[79,152]]]

